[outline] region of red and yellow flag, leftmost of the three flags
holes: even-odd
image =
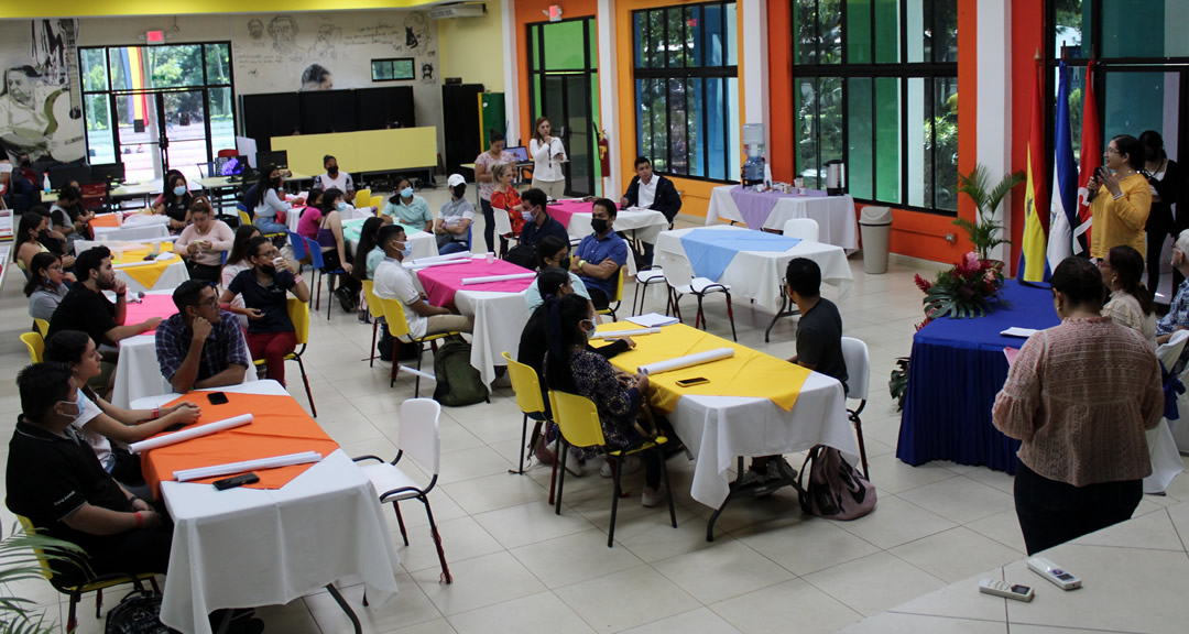
[[[1044,117],[1042,115],[1040,51],[1037,51],[1032,69],[1032,124],[1028,133],[1027,181],[1024,192],[1024,245],[1020,249],[1020,265],[1015,278],[1023,282],[1044,282],[1050,271],[1046,264],[1049,251],[1049,196],[1044,183]]]

